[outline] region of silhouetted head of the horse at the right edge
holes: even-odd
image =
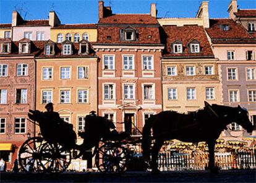
[[[247,130],[248,133],[252,133],[254,126],[252,126],[252,122],[250,122],[247,109],[241,108],[241,106],[238,105],[236,110],[236,114],[234,114],[235,122]]]

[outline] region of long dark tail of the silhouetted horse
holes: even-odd
[[[153,119],[155,117],[151,116],[147,121],[145,122],[145,125],[142,130],[142,151],[143,151],[143,157],[145,160],[150,160],[150,145],[151,145],[151,128],[153,124]]]

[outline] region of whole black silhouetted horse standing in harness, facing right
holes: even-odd
[[[176,111],[162,111],[151,116],[143,126],[142,131],[142,150],[145,161],[150,161],[153,174],[158,170],[158,151],[165,140],[177,139],[182,142],[198,143],[205,141],[208,144],[209,166],[211,172],[218,172],[215,167],[215,142],[221,132],[226,129],[228,124],[236,122],[247,132],[252,133],[254,127],[249,120],[249,113],[245,108],[221,106],[218,104],[208,104],[205,107],[190,114],[181,114]],[[153,137],[151,135],[151,129]],[[153,147],[151,140],[154,139]]]

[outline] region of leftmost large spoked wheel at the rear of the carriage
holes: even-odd
[[[19,164],[25,172],[46,172],[46,166],[41,161],[41,149],[47,142],[42,137],[28,138],[19,150]]]

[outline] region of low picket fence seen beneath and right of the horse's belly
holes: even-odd
[[[215,153],[215,164],[220,169],[254,169],[256,156],[253,151]],[[208,166],[208,152],[160,153],[158,168],[161,171],[204,170]]]

